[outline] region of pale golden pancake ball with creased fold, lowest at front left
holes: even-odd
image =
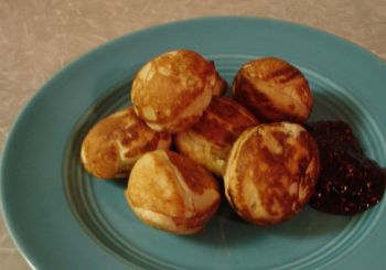
[[[221,201],[210,172],[184,155],[164,150],[138,160],[125,194],[143,223],[182,235],[203,230]]]

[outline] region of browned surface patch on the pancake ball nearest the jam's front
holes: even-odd
[[[318,177],[319,152],[313,138],[305,130],[293,138],[280,126],[281,123],[260,125],[257,129],[265,129],[264,136],[254,132],[244,141],[235,169],[238,186],[228,190],[229,199],[236,210],[245,219],[256,224],[276,224],[293,216],[309,199]],[[282,151],[272,152],[265,144],[267,137],[279,143]],[[296,143],[289,143],[293,139]],[[296,164],[296,168],[291,164]],[[310,166],[314,169],[310,171]],[[250,179],[251,171],[254,176]],[[255,218],[253,209],[243,198],[244,180],[247,179],[253,181],[261,207],[271,216],[270,220],[265,217]],[[293,191],[294,194],[290,194],[293,183],[298,188]],[[299,188],[309,191],[305,199],[299,197]]]

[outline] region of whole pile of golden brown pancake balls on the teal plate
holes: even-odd
[[[86,134],[84,168],[128,177],[132,212],[165,231],[202,231],[222,196],[251,224],[289,219],[319,176],[317,143],[301,126],[313,107],[309,84],[291,64],[266,57],[240,67],[232,98],[226,90],[215,64],[196,52],[152,58],[132,82],[132,106]]]

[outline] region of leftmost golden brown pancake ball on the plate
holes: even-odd
[[[169,149],[171,136],[156,132],[137,117],[130,106],[98,121],[82,142],[81,160],[99,179],[128,176],[146,152]]]

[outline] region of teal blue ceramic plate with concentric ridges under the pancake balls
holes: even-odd
[[[194,50],[230,83],[250,58],[298,66],[315,97],[312,119],[342,119],[386,164],[386,65],[334,35],[258,18],[194,19],[107,43],[68,65],[34,96],[8,138],[1,170],[7,226],[36,269],[382,269],[384,199],[354,217],[305,207],[264,228],[223,204],[206,230],[175,236],[147,227],[125,201],[126,183],[97,181],[79,164],[85,132],[128,105],[131,79],[153,56]]]

